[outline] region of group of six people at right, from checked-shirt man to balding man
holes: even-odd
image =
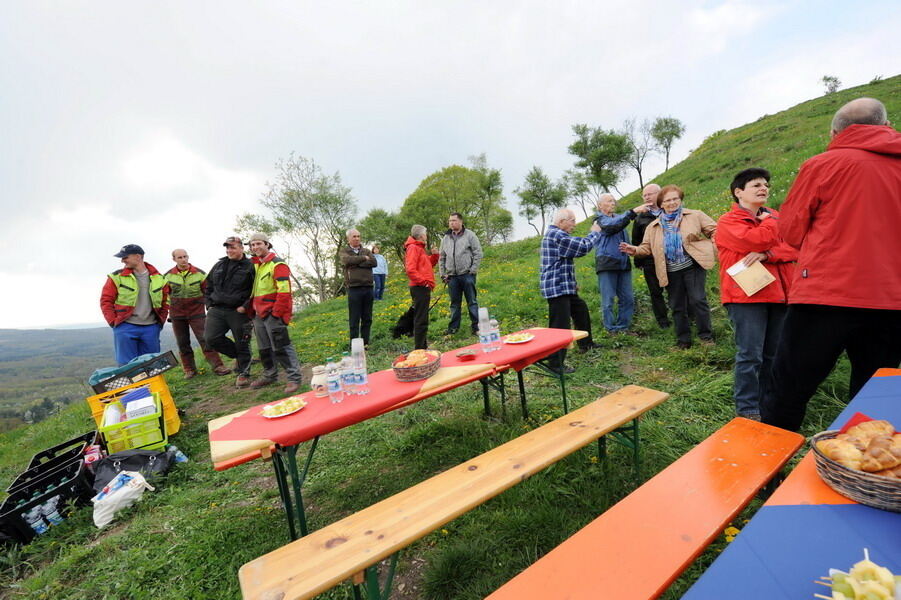
[[[781,215],[766,206],[771,175],[757,167],[736,174],[729,186],[734,204],[718,222],[685,207],[676,185],[646,186],[644,203],[620,214],[615,199],[602,196],[582,238],[572,235],[573,212],[558,211],[541,245],[549,325],[572,322],[589,333],[580,347],[594,345],[572,264],[594,248],[608,331],[627,330],[632,318],[628,255],[644,274],[662,328],[670,326],[666,290],[677,347],[691,346],[692,321],[701,342],[712,344],[706,273],[718,256],[721,301],[737,349],[737,414],[799,429],[807,403],[843,351],[853,397],[878,368],[901,363],[901,236],[895,232],[901,134],[881,102],[859,98],[838,110],[831,138],[826,152],[802,166]],[[732,273],[755,263],[770,282],[749,294]],[[564,356],[553,357],[553,364],[569,371]]]

